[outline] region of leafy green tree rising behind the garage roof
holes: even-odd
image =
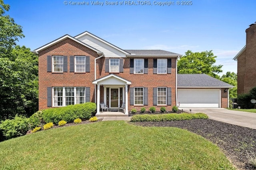
[[[201,53],[188,50],[184,56],[178,60],[179,74],[208,74],[209,76],[220,78],[218,73],[222,72],[222,65],[214,65],[217,56],[211,51]]]

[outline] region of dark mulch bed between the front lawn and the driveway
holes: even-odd
[[[256,156],[256,129],[231,125],[212,119],[186,121],[136,122],[140,126],[178,127],[216,144],[239,169],[255,170],[248,156]]]

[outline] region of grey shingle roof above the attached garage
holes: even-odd
[[[177,88],[233,88],[234,86],[222,82],[207,74],[178,74]]]

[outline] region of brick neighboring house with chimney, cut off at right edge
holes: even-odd
[[[237,94],[249,93],[256,86],[255,23],[246,29],[246,45],[234,57],[234,60],[237,60]]]

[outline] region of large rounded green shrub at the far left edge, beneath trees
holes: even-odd
[[[29,120],[24,116],[16,115],[14,119],[6,119],[0,124],[2,134],[6,139],[26,135],[29,129]]]

